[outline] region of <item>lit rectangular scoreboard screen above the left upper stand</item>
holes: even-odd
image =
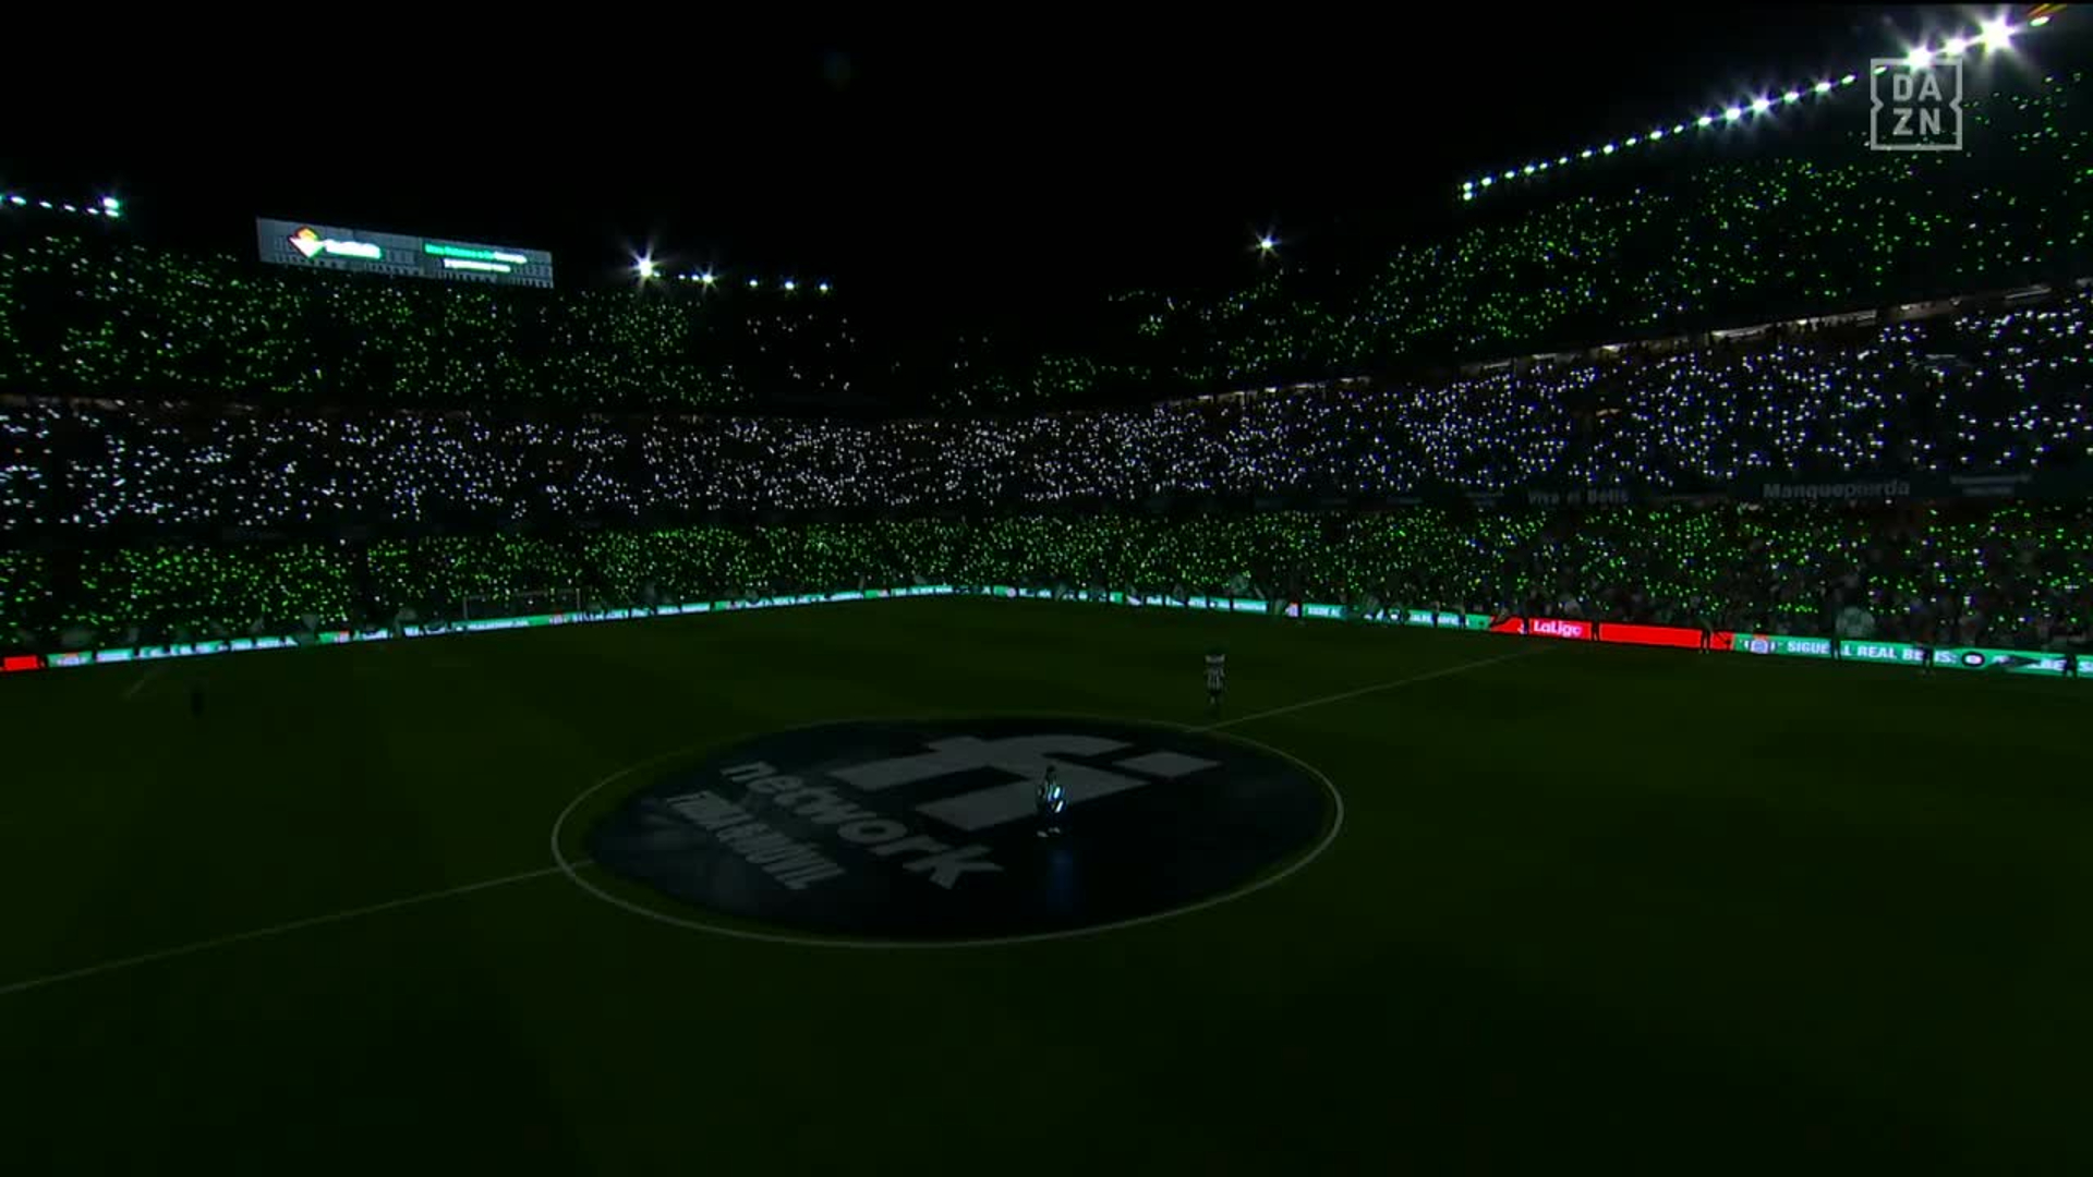
[[[310,220],[255,218],[262,260],[301,270],[352,270],[398,279],[502,283],[553,287],[553,256],[544,249],[509,249],[469,241],[435,241],[400,232],[373,232]]]

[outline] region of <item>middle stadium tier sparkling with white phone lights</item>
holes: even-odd
[[[0,532],[670,524],[1157,498],[1641,496],[2093,471],[2093,293],[1492,375],[1101,413],[785,417],[0,404]]]

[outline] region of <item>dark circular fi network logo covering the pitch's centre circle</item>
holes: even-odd
[[[1053,771],[1061,806],[1040,802]],[[676,769],[590,831],[687,909],[885,940],[1046,936],[1222,898],[1327,842],[1337,800],[1237,739],[1093,718],[839,723]]]

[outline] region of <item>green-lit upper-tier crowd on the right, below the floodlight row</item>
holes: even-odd
[[[1277,270],[1214,299],[1128,295],[1151,379],[1241,390],[1417,362],[1589,348],[2093,272],[2085,73],[1972,98],[1965,153],[1877,153],[1865,119],[1817,153],[1681,163],[1664,182],[1478,214],[1371,272]],[[1664,151],[1687,151],[1664,149]],[[1674,157],[1676,159],[1676,157]],[[1312,289],[1310,289],[1312,283]],[[1049,358],[954,406],[1057,404],[1126,371]],[[1055,377],[1061,379],[1055,379]]]

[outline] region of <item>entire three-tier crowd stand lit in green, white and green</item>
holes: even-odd
[[[257,274],[8,230],[0,630],[933,580],[2049,641],[2093,584],[2080,94],[1974,111],[1970,159],[1712,159],[1337,293],[1134,295],[1126,348],[883,396],[994,417],[770,413],[864,396],[827,291]],[[1122,404],[1067,408],[1101,390]]]

